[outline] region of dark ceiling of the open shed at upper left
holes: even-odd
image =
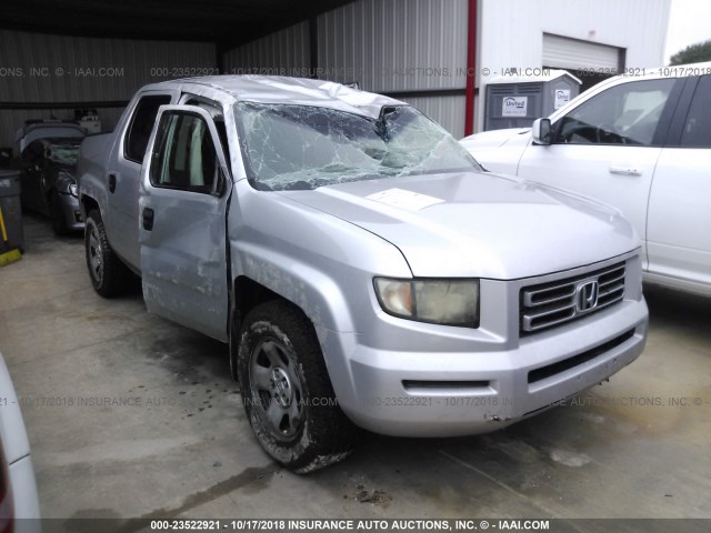
[[[16,0],[0,28],[78,37],[216,42],[233,48],[353,0]]]

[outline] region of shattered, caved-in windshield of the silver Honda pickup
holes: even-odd
[[[260,190],[478,169],[440,125],[407,105],[379,119],[330,108],[237,103],[248,178]]]

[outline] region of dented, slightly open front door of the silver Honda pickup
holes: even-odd
[[[139,241],[148,310],[227,341],[232,182],[213,114],[160,108],[141,170]]]

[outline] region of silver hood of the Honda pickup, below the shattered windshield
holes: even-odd
[[[639,247],[632,227],[612,208],[489,172],[389,178],[278,194],[389,241],[414,276],[519,279]]]

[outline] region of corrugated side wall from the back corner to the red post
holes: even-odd
[[[467,17],[467,0],[360,0],[317,19],[318,64],[303,22],[228,52],[224,67],[296,76],[313,67],[321,79],[393,93],[462,137]]]

